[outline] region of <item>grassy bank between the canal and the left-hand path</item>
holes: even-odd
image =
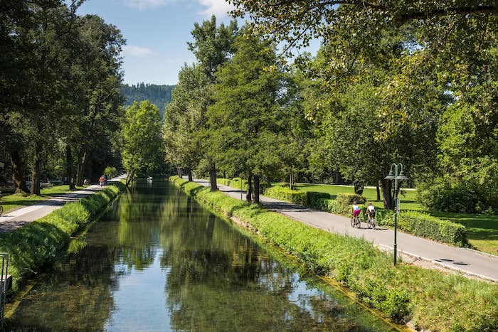
[[[8,252],[10,256],[9,274],[12,274],[14,293],[24,279],[53,262],[71,237],[123,189],[122,182],[112,183],[78,202],[65,204],[33,223],[0,234],[0,252]]]

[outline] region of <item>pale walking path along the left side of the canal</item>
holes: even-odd
[[[122,178],[126,178],[126,174],[112,178],[112,180],[107,182],[112,183],[113,181],[120,181]],[[90,196],[93,193],[97,193],[97,191],[102,190],[102,188],[105,188],[105,186],[100,187],[97,184],[88,186],[80,191],[63,193],[48,200],[43,200],[43,202],[27,206],[26,208],[20,208],[18,210],[4,213],[0,216],[0,233],[11,232],[18,227],[48,215],[48,213],[51,213],[53,210],[62,208],[65,203],[75,202],[76,200]]]

